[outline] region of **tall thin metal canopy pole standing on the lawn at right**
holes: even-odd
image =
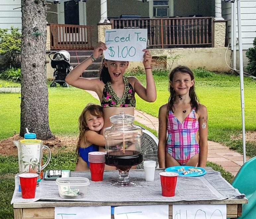
[[[245,122],[244,122],[244,77],[243,77],[243,48],[242,48],[240,0],[237,0],[237,26],[238,26],[238,45],[239,45],[241,109],[242,109],[243,160],[245,163],[246,162],[246,152],[245,152]]]

